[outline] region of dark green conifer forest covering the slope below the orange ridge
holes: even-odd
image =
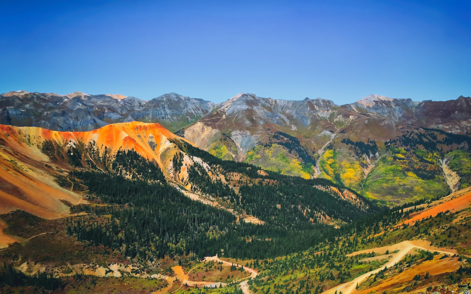
[[[75,217],[67,233],[78,240],[118,249],[131,258],[153,260],[165,255],[199,257],[224,254],[239,258],[268,258],[286,255],[332,239],[347,226],[336,229],[320,220],[329,216],[345,224],[380,213],[362,196],[356,202],[323,191],[334,185],[325,179],[306,180],[277,173],[260,176],[260,168],[224,161],[183,141],[174,142],[190,156],[202,158],[224,175],[244,175],[239,191],[220,180],[211,180],[198,163],[189,169],[193,189],[232,203],[235,211],[247,211],[265,224],[236,221],[227,210],[192,201],[167,183],[160,168],[134,150],[118,151],[101,160],[109,170],[79,170],[70,178],[81,181],[107,206],[73,207],[97,218]],[[181,166],[178,156],[173,158]],[[321,189],[319,189],[321,188]],[[293,205],[295,204],[295,205]],[[103,217],[109,216],[109,217]]]

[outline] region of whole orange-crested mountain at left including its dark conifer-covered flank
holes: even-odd
[[[344,224],[379,212],[329,180],[221,160],[158,124],[113,124],[91,132],[3,129],[0,151],[11,160],[2,164],[16,170],[15,181],[49,174],[58,192],[101,203],[57,201],[72,206],[73,215],[86,213],[69,218],[69,235],[130,257],[285,255],[335,238]],[[59,208],[62,213],[67,206]],[[29,210],[41,215],[37,211]]]

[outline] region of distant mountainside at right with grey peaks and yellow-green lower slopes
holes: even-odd
[[[401,203],[414,197],[447,193],[448,186],[456,188],[459,178],[456,171],[442,168],[438,159],[449,148],[467,150],[467,143],[460,141],[452,147],[450,138],[439,143],[444,136],[439,132],[435,132],[438,137],[431,134],[426,141],[438,140],[443,149],[427,144],[416,146],[413,142],[428,132],[427,128],[466,134],[471,126],[470,101],[471,98],[460,97],[452,101],[417,102],[369,95],[339,106],[324,99],[276,100],[241,93],[185,128],[182,136],[189,140],[197,138],[199,147],[221,158],[228,158],[227,154],[232,152],[233,159],[265,170],[327,178],[365,195]],[[205,128],[211,132],[199,131]],[[216,134],[216,130],[220,133]],[[408,149],[395,142],[394,146],[406,147],[408,151],[406,155],[390,153],[384,144],[402,137],[406,138],[404,144],[412,142],[413,146]],[[366,149],[358,148],[362,144]],[[377,149],[368,150],[373,146]],[[427,155],[423,156],[429,157],[424,159],[415,154],[415,149],[425,149]],[[397,171],[400,180],[388,176],[397,167],[403,167]],[[423,171],[427,168],[430,171]],[[390,189],[384,190],[384,185]]]

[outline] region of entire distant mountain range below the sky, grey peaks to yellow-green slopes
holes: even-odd
[[[159,123],[221,159],[326,178],[390,204],[471,184],[470,97],[418,102],[369,95],[337,105],[240,93],[216,104],[176,93],[143,101],[17,91],[0,95],[0,109],[0,124],[53,131]]]

